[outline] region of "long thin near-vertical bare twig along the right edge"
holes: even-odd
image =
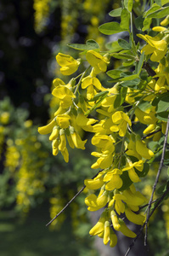
[[[164,163],[164,157],[165,157],[165,153],[166,153],[166,143],[167,143],[167,136],[168,136],[168,129],[169,129],[169,115],[168,115],[168,119],[167,119],[167,124],[166,124],[166,133],[165,133],[165,139],[164,139],[164,144],[163,144],[163,150],[162,150],[162,154],[161,154],[161,163],[159,166],[159,170],[157,172],[156,178],[155,178],[155,183],[153,185],[153,191],[151,193],[151,197],[149,200],[149,206],[148,206],[148,211],[147,211],[147,217],[145,220],[145,236],[144,236],[144,246],[147,245],[147,237],[148,237],[148,222],[149,222],[149,212],[150,212],[150,207],[152,205],[152,201],[153,201],[153,195],[155,193],[155,189],[156,189],[156,185],[159,181],[159,177],[161,174],[161,169]]]

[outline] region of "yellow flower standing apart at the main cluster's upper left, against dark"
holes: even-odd
[[[70,55],[64,55],[62,53],[56,55],[56,61],[60,66],[60,72],[66,76],[75,73],[80,65],[80,61],[76,61]]]

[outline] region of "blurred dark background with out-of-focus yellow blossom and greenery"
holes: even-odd
[[[95,172],[90,169],[93,159],[89,143],[86,151],[70,151],[70,162],[66,164],[61,155],[52,155],[48,136],[37,133],[37,127],[46,125],[54,113],[52,80],[62,79],[55,55],[62,52],[76,57],[76,50],[67,44],[85,44],[87,39],[104,47],[107,38],[100,34],[98,26],[112,20],[108,13],[119,7],[120,1],[110,0],[0,3],[2,256],[118,256],[125,254],[131,243],[130,239],[121,238],[119,245],[110,249],[88,235],[98,216],[87,212],[86,191],[53,224],[45,226],[82,188],[84,179],[93,177]],[[144,184],[144,194],[149,195],[153,181]],[[140,254],[140,247],[144,250],[141,238],[131,255],[169,255],[168,212],[168,207],[163,207],[152,220],[149,253],[145,249]],[[159,220],[161,216],[165,222]]]

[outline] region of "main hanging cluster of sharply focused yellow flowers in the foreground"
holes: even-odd
[[[60,53],[56,60],[60,72],[65,75],[75,73],[82,62]],[[125,213],[135,224],[144,223],[144,216],[135,212],[138,212],[139,206],[146,199],[136,191],[133,183],[141,181],[144,162],[154,157],[154,153],[139,136],[129,135],[132,128],[130,114],[122,107],[115,108],[115,99],[119,95],[118,86],[104,88],[97,77],[99,73],[106,72],[110,62],[109,55],[100,55],[91,49],[86,53],[86,61],[89,65],[87,70],[81,76],[70,79],[68,84],[61,79],[54,79],[52,95],[57,99],[59,107],[54,113],[54,119],[38,131],[41,134],[50,133],[53,154],[56,155],[60,151],[66,162],[69,161],[67,143],[70,148],[85,149],[87,140],[82,141],[79,129],[94,133],[91,142],[97,151],[92,155],[98,160],[93,163],[92,168],[101,168],[102,171],[93,179],[86,179],[85,185],[87,189],[100,189],[100,192],[99,195],[88,195],[85,203],[89,211],[97,211],[106,205],[108,207],[90,234],[102,237],[104,244],[110,241],[110,246],[113,247],[117,238],[112,226],[125,236],[136,236],[119,217],[121,213]],[[87,74],[89,68],[91,72]],[[102,119],[88,118],[95,109]],[[143,112],[140,108],[135,108],[135,116],[146,125],[157,122],[155,113]],[[116,143],[121,143],[122,148],[116,147]],[[136,160],[132,160],[132,157]],[[125,186],[125,175],[130,184],[126,189],[122,189]]]

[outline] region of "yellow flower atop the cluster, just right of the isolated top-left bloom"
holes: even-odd
[[[107,65],[110,63],[107,56],[102,56],[93,49],[87,51],[87,61],[94,67],[94,73],[106,72]]]

